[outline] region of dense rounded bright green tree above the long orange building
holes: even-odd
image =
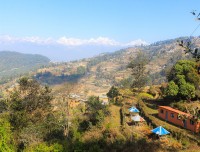
[[[195,97],[199,90],[200,76],[197,64],[190,60],[179,60],[168,75],[169,84],[165,90],[167,97],[188,99]]]

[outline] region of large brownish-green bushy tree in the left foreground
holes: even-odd
[[[48,86],[41,86],[36,80],[23,77],[8,99],[9,121],[16,142],[21,149],[47,138],[57,124],[53,116],[53,96]],[[52,123],[54,122],[54,123]],[[51,128],[49,128],[51,124]]]

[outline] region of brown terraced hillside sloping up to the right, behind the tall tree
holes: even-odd
[[[179,39],[187,38],[130,47],[72,62],[55,63],[39,69],[36,78],[40,82],[56,85],[57,88],[63,88],[65,82],[76,82],[79,85],[78,92],[86,96],[105,94],[112,85],[122,87],[130,85],[131,71],[127,69],[127,65],[136,57],[138,51],[142,51],[149,58],[146,66],[147,85],[160,84],[166,82],[166,73],[177,60],[190,58],[178,46]],[[199,38],[190,38],[190,40],[195,41],[194,46],[200,45]]]

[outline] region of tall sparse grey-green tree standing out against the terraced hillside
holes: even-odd
[[[147,55],[139,51],[137,56],[128,64],[128,68],[131,69],[134,78],[132,87],[141,88],[146,84],[147,76],[145,73],[145,66],[147,63]]]

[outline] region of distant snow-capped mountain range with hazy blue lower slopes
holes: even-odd
[[[38,37],[16,38],[0,36],[0,50],[41,54],[47,56],[52,62],[79,60],[93,57],[100,53],[114,52],[125,47],[147,44],[147,42],[141,39],[128,43],[120,43],[106,37],[92,39],[66,37],[41,39]]]

